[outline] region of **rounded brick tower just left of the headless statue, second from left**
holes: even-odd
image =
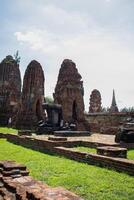
[[[28,65],[22,89],[17,127],[33,128],[42,119],[44,102],[44,73],[40,63],[33,60]]]

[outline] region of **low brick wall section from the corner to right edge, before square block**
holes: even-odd
[[[72,160],[85,162],[100,167],[108,167],[119,172],[125,172],[130,175],[134,175],[134,160],[102,156],[93,153],[78,152],[76,150],[70,150],[65,147],[55,147],[54,152]]]

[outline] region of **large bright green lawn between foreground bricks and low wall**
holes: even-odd
[[[85,200],[133,200],[134,178],[105,168],[43,154],[0,139],[0,160],[25,164],[30,174],[51,186],[63,186]]]

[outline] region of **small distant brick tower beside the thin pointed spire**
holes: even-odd
[[[89,113],[101,112],[101,94],[98,90],[92,91],[89,104]]]

